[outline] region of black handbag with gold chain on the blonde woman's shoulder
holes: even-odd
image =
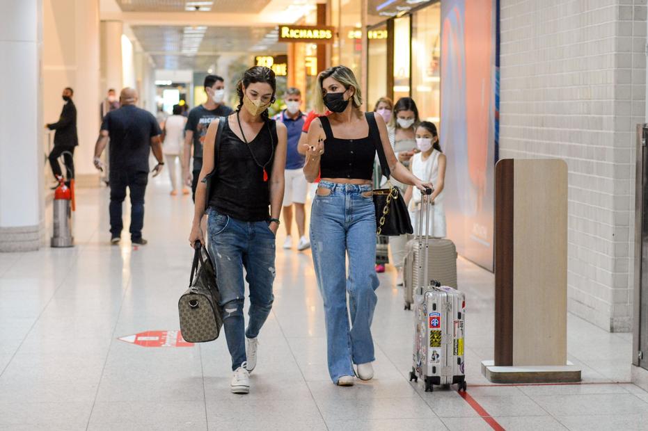
[[[384,236],[413,234],[414,229],[409,219],[409,211],[407,211],[404,196],[389,181],[391,171],[389,163],[387,163],[387,156],[385,156],[374,113],[365,113],[365,116],[369,124],[369,136],[376,147],[380,168],[388,180],[387,185],[389,187],[378,188],[373,192],[374,208],[376,209],[376,232]]]

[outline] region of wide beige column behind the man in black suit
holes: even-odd
[[[79,134],[74,153],[77,184],[99,184],[93,166],[104,95],[100,89],[99,0],[42,0],[42,7],[44,120],[58,118],[61,90],[72,87]]]

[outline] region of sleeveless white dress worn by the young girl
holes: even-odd
[[[438,157],[441,155],[436,149],[432,150],[426,161],[422,159],[422,153],[414,154],[412,157],[412,173],[425,182],[436,184],[438,180]],[[443,211],[443,195],[445,190],[434,198],[434,206],[429,213],[429,234],[434,238],[445,237],[445,211]],[[409,202],[409,216],[414,227],[414,234],[418,235],[418,226],[420,218],[420,201],[421,193],[418,188],[414,187],[412,199]],[[424,220],[425,222],[425,220]],[[425,226],[424,226],[425,228]],[[425,233],[425,229],[424,229]]]

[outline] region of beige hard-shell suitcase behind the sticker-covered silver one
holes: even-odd
[[[431,204],[434,205],[434,204]],[[428,205],[428,210],[431,205]],[[434,211],[432,211],[434,217]],[[422,220],[423,213],[421,211]],[[422,222],[419,223],[422,225]],[[426,229],[427,230],[427,229]],[[423,285],[429,284],[432,279],[437,280],[443,286],[457,288],[457,248],[455,243],[445,238],[429,238],[428,232],[425,234],[427,244],[430,250],[429,256],[425,258],[427,263],[429,278],[423,280]],[[405,309],[411,309],[413,302],[413,292],[415,286],[419,285],[418,266],[420,263],[420,241],[414,238],[405,245],[405,260],[403,264],[403,299]]]

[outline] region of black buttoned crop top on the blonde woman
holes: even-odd
[[[319,117],[326,134],[325,151],[319,162],[322,178],[372,179],[376,145],[382,143],[374,114],[365,113],[365,117],[369,136],[360,139],[335,138],[329,118]]]

